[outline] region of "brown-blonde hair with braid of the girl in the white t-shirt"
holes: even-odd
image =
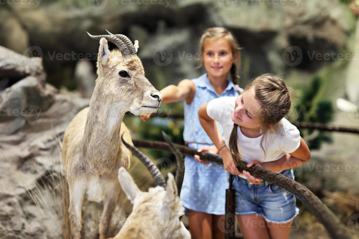
[[[263,147],[263,141],[267,139],[268,134],[272,131],[280,134],[279,121],[288,115],[294,94],[289,86],[286,86],[284,80],[280,76],[272,74],[260,75],[250,84],[247,85],[244,91],[254,89],[255,98],[259,101],[259,121],[262,129],[261,148],[266,156]],[[243,91],[243,92],[244,92]],[[268,125],[272,125],[272,129]],[[242,160],[238,151],[237,145],[237,130],[238,125],[234,124],[229,138],[229,149],[232,154],[236,166]],[[267,141],[267,140],[266,140]]]

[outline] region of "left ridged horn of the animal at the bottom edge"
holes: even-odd
[[[122,143],[125,144],[125,146],[131,150],[132,154],[136,156],[140,161],[146,166],[148,171],[150,172],[153,181],[155,182],[156,186],[161,186],[163,188],[166,188],[166,181],[164,180],[164,177],[162,173],[159,171],[159,169],[156,167],[156,165],[149,159],[147,156],[145,156],[144,153],[142,153],[140,150],[138,150],[136,147],[128,144],[123,139],[123,134],[121,136]]]

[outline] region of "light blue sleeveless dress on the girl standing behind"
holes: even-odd
[[[199,108],[222,96],[238,96],[238,92],[232,81],[228,80],[228,86],[221,95],[214,90],[207,73],[192,81],[196,86],[196,93],[191,104],[185,101],[184,117],[185,129],[183,139],[188,143],[188,147],[199,149],[204,146],[214,146],[205,130],[202,128],[199,118]],[[222,127],[219,125],[223,135]],[[197,142],[197,143],[191,143]],[[201,144],[206,143],[206,144]],[[185,157],[185,177],[181,189],[181,201],[183,206],[199,212],[208,214],[225,214],[225,190],[228,189],[228,172],[223,165],[210,163],[202,164],[195,161],[194,157]]]

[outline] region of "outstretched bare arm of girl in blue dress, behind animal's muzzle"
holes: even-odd
[[[196,86],[193,81],[185,79],[180,81],[177,86],[169,85],[159,91],[162,95],[162,104],[178,102],[180,100],[186,100],[187,104],[190,104],[196,93]],[[143,121],[150,118],[152,113],[147,115],[140,115]]]

